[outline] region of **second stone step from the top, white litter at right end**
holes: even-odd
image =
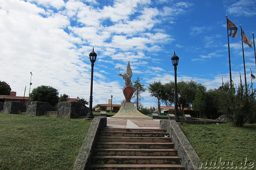
[[[166,132],[121,132],[121,131],[101,131],[100,136],[111,137],[165,137],[169,136]]]

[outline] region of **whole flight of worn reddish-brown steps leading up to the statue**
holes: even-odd
[[[185,170],[168,135],[165,129],[103,128],[90,169]]]

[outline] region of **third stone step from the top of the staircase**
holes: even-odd
[[[169,137],[99,137],[100,142],[171,142]]]

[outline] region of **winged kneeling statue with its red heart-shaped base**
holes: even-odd
[[[132,87],[132,69],[130,66],[130,62],[128,62],[127,67],[126,67],[126,73],[120,74],[118,72],[119,76],[122,76],[124,78],[124,84],[125,86],[123,87],[123,93],[124,93],[124,102],[131,102],[132,95],[134,93],[134,89]]]

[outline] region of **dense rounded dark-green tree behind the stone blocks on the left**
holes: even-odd
[[[41,85],[32,90],[30,93],[30,101],[48,102],[53,107],[59,101],[59,92],[51,86]]]

